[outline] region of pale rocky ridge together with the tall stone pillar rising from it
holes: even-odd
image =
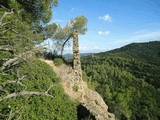
[[[97,92],[89,89],[87,83],[82,80],[78,32],[76,30],[73,32],[73,68],[66,65],[56,67],[52,61],[45,60],[45,62],[61,78],[65,93],[86,107],[97,120],[115,119],[115,116],[108,112],[108,106],[102,97]]]

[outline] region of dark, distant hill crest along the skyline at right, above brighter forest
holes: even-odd
[[[160,66],[160,41],[131,43],[124,47],[109,52],[103,52],[98,55],[108,54]]]

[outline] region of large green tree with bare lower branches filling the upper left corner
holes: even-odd
[[[54,34],[57,25],[46,23],[51,20],[52,7],[57,4],[57,0],[0,1],[0,66],[2,70],[7,70],[28,59],[28,54],[37,51],[36,44]]]

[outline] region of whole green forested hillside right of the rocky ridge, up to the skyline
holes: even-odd
[[[118,119],[160,119],[160,42],[133,43],[82,58],[84,79]]]

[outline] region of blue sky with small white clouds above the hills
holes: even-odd
[[[59,0],[50,23],[64,27],[81,15],[88,19],[88,31],[79,35],[81,53],[160,40],[160,0]],[[64,52],[71,50],[72,46]]]

